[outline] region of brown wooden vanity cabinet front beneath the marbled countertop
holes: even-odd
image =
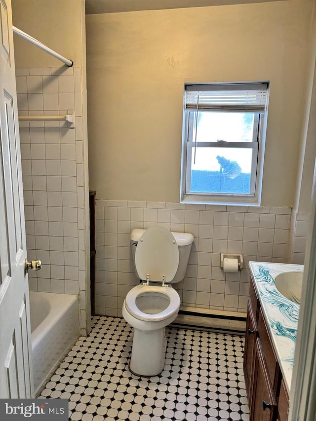
[[[288,395],[252,279],[243,371],[250,421],[286,421]]]

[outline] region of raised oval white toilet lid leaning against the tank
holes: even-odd
[[[137,243],[135,266],[141,279],[170,282],[179,266],[179,249],[171,231],[160,225],[148,228]]]

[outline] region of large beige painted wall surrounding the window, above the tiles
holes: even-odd
[[[90,188],[179,201],[185,82],[270,80],[264,206],[291,206],[313,1],[88,15]]]

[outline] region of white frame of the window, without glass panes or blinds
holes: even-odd
[[[266,137],[266,126],[267,126],[267,113],[268,113],[268,97],[269,97],[269,82],[239,82],[239,83],[205,83],[198,84],[197,86],[233,86],[235,89],[239,85],[258,85],[258,83],[266,84],[266,102],[264,112],[251,111],[257,121],[254,123],[254,130],[257,129],[257,133],[254,136],[252,142],[225,142],[218,144],[216,142],[194,142],[194,124],[193,119],[197,115],[195,110],[186,110],[186,88],[187,86],[194,86],[192,83],[186,83],[184,86],[184,111],[183,111],[183,129],[182,129],[182,156],[181,156],[181,190],[180,190],[180,203],[196,203],[196,204],[228,204],[228,205],[248,205],[258,206],[261,201],[261,190],[262,190],[262,177],[263,177],[263,161],[264,161],[264,149],[265,149],[265,137]],[[204,111],[205,110],[199,110]],[[215,110],[214,110],[215,111]],[[224,111],[224,110],[223,110]],[[233,113],[234,110],[225,110],[226,112]],[[236,111],[235,111],[236,112]],[[240,111],[239,111],[240,112]],[[191,124],[190,124],[191,123]],[[254,140],[256,139],[256,140]],[[209,193],[209,192],[187,192],[186,188],[188,184],[191,184],[191,162],[192,162],[192,150],[194,147],[216,147],[216,148],[251,148],[252,161],[251,161],[251,176],[250,176],[250,193]]]

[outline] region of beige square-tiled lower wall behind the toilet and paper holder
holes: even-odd
[[[96,312],[121,316],[127,292],[139,283],[131,260],[130,231],[157,224],[195,237],[186,276],[173,285],[182,306],[245,312],[248,262],[286,263],[290,223],[290,207],[97,200]],[[241,253],[244,269],[224,272],[222,252]],[[304,263],[301,253],[293,255],[295,263]]]

